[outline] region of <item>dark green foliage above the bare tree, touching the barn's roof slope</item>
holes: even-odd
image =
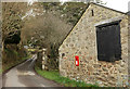
[[[75,25],[86,9],[88,8],[88,4],[84,4],[83,2],[66,2],[63,5],[61,3],[52,2],[52,3],[42,3],[43,8],[48,11],[54,10],[55,12],[60,12],[61,15],[65,14],[67,23],[72,23]]]

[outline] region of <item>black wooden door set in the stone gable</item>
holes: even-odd
[[[96,44],[99,61],[121,60],[119,22],[96,26]]]

